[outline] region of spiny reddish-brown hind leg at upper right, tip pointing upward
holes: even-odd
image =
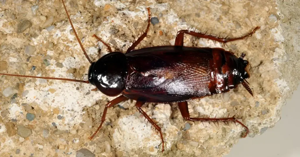
[[[252,32],[248,33],[247,35],[244,35],[244,36],[238,37],[238,38],[233,38],[233,39],[220,38],[220,37],[216,37],[216,36],[206,35],[205,33],[197,33],[195,31],[180,30],[180,31],[178,31],[178,33],[176,35],[175,46],[183,46],[184,34],[189,34],[191,36],[196,36],[196,37],[205,38],[205,39],[211,39],[211,40],[214,40],[214,41],[221,42],[221,43],[225,44],[226,42],[232,42],[232,41],[235,41],[235,40],[244,39],[247,36],[252,35],[259,28],[260,27],[256,27],[256,28],[254,28],[254,30]]]

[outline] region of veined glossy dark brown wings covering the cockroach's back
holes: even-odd
[[[145,102],[182,102],[210,95],[211,48],[158,46],[126,54],[123,95]]]

